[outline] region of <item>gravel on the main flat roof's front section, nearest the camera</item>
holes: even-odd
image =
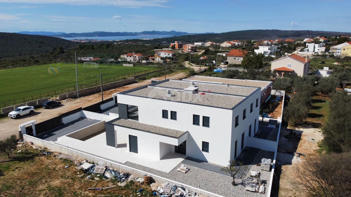
[[[172,97],[166,96],[166,90],[171,90],[174,95]],[[177,101],[193,104],[201,104],[205,106],[221,107],[231,109],[240,101],[244,100],[244,96],[232,96],[232,95],[220,95],[212,93],[204,94],[191,94],[186,93],[184,90],[172,90],[170,88],[156,88],[156,87],[145,87],[139,90],[131,91],[126,93],[128,95],[143,96],[152,99],[161,99],[166,101]]]

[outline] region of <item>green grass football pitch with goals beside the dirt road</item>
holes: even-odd
[[[156,68],[157,66],[137,66],[124,67],[115,65],[99,65],[99,68],[84,68],[83,64],[78,64],[79,86],[87,87],[100,84],[102,74],[103,82],[118,79],[121,74],[142,72]],[[59,68],[59,74],[48,73],[48,68]],[[130,74],[129,76],[134,76]],[[0,107],[19,104],[23,101],[31,101],[44,96],[52,96],[74,89],[76,85],[75,64],[46,64],[40,66],[29,66],[0,70]],[[33,90],[33,91],[28,91]],[[56,91],[55,91],[56,90]],[[27,91],[27,92],[24,92]],[[16,94],[13,94],[16,93]],[[40,95],[42,94],[42,95]],[[23,99],[24,98],[24,99]]]

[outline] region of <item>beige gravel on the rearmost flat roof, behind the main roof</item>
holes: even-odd
[[[186,80],[194,80],[194,81],[207,81],[207,82],[216,82],[216,83],[224,83],[230,85],[238,85],[238,86],[251,86],[251,87],[259,87],[268,86],[270,81],[254,81],[254,80],[238,80],[238,79],[227,79],[220,77],[206,77],[206,76],[193,76],[187,78]]]

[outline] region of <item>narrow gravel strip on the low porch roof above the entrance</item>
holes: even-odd
[[[139,123],[137,121],[131,121],[131,120],[125,120],[125,119],[119,119],[117,121],[112,122],[112,124],[116,124],[116,125],[120,125],[120,126],[124,126],[124,127],[130,127],[133,129],[149,131],[149,132],[155,133],[155,134],[177,137],[177,138],[185,133],[184,131],[167,129],[164,127],[157,127],[154,125],[143,124],[143,123]]]

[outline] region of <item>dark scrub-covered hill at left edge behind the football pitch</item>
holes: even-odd
[[[51,36],[0,32],[0,60],[5,57],[46,53],[58,46],[69,48],[79,43]]]

